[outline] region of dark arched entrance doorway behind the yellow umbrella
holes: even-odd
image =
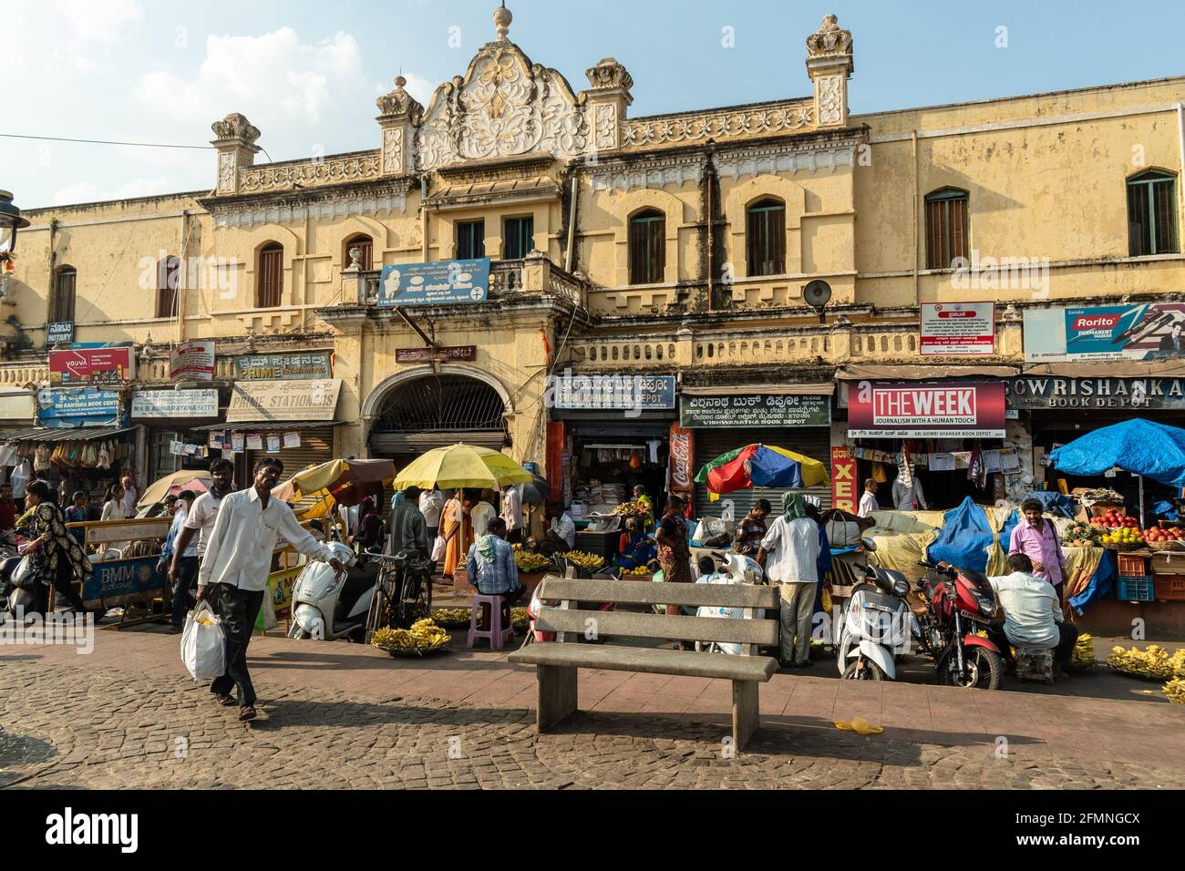
[[[506,403],[491,384],[457,373],[425,373],[382,397],[371,428],[371,455],[398,467],[456,442],[499,450],[510,444],[505,415]]]

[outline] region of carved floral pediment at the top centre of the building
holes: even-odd
[[[478,52],[463,78],[436,89],[417,130],[417,164],[435,169],[527,154],[574,158],[587,150],[588,139],[583,96],[501,39]]]

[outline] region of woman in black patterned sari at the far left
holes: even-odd
[[[82,584],[94,574],[90,561],[82,552],[77,539],[66,530],[65,515],[50,495],[45,481],[34,481],[25,493],[28,510],[17,521],[30,539],[25,549],[37,582],[33,584],[36,609],[40,614],[50,610],[50,584],[62,594],[70,607],[85,613],[82,596],[75,584]]]

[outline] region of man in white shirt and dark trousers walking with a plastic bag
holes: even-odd
[[[283,536],[309,559],[328,563],[339,574],[345,571],[333,551],[301,527],[293,510],[271,498],[283,472],[278,459],[264,456],[255,463],[255,486],[222,500],[198,571],[198,600],[217,587],[218,615],[226,633],[226,671],[210,691],[229,706],[235,704],[230,691],[238,687],[241,721],[255,719],[256,713],[246,647],[268,588],[276,537]]]

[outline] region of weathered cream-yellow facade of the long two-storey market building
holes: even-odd
[[[26,210],[0,388],[45,380],[50,296],[70,267],[76,341],[134,342],[141,386],[168,383],[167,350],[185,340],[218,342],[225,383],[236,356],[332,348],[338,455],[382,453],[380,430],[410,433],[390,411],[408,385],[469,379],[501,402],[508,453],[545,472],[549,372],[702,388],[960,367],[1001,377],[1024,363],[1026,308],[1179,295],[1185,78],[852,114],[853,38],[827,17],[807,39],[806,96],[635,116],[622,64],[591,64],[577,91],[512,43],[510,25],[497,11],[495,39],[428,107],[402,79],[378,100],[377,122],[359,107],[372,150],[257,164],[263,134],[232,114],[213,124],[211,191]],[[1127,185],[1148,171],[1176,184],[1177,245],[1133,256]],[[948,264],[931,268],[928,198],[942,191],[966,194],[968,250],[1031,258],[1044,282],[988,270],[966,289]],[[761,203],[782,216],[763,249],[773,274],[749,262]],[[635,267],[640,214],[660,241],[647,237],[654,254]],[[526,256],[521,241],[510,251],[508,222],[520,218],[533,230]],[[414,326],[373,305],[374,273],[460,256],[473,222],[493,261],[488,301],[409,307]],[[360,238],[370,258],[352,264]],[[282,281],[261,300],[262,256],[276,246]],[[179,310],[158,316],[155,264],[174,256],[194,265],[181,271]],[[813,281],[832,292],[825,324],[803,296]],[[994,353],[922,359],[920,306],[969,300],[998,303]],[[473,359],[398,361],[425,347],[416,328],[442,348],[475,347]],[[841,427],[832,441],[843,443]]]

